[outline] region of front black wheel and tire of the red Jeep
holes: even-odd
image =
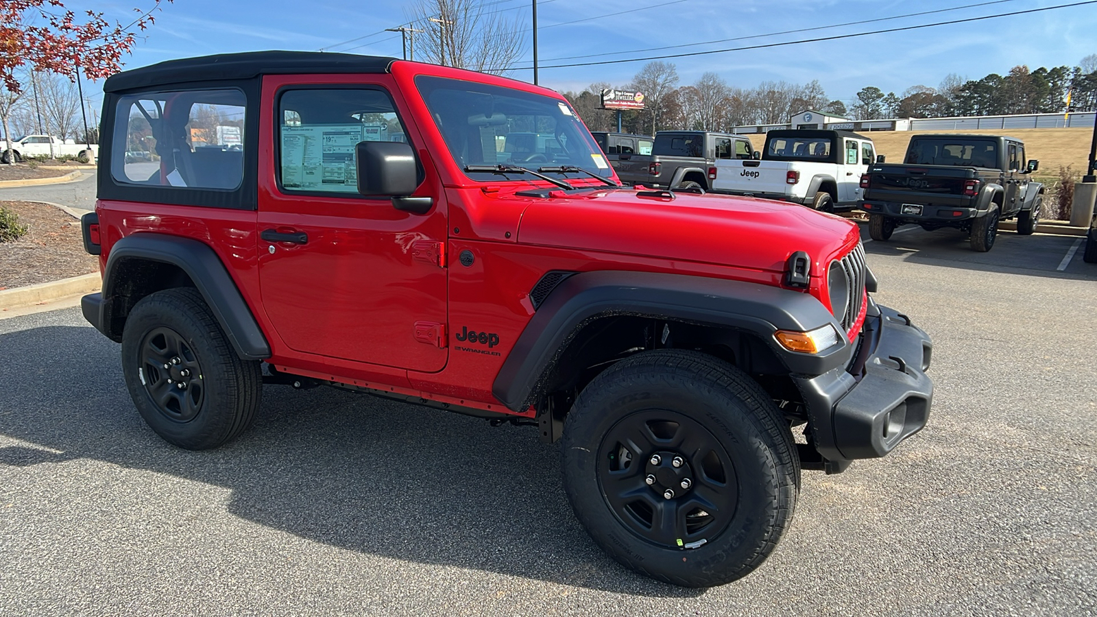
[[[647,576],[722,585],[758,568],[792,520],[800,458],[770,397],[697,351],[637,354],[583,390],[564,486],[610,556]]]

